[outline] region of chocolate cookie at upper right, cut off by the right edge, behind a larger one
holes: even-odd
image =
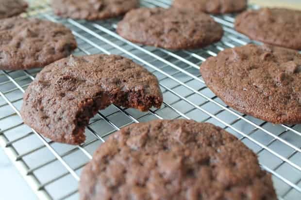
[[[301,50],[301,11],[249,10],[236,17],[235,30],[267,44]]]

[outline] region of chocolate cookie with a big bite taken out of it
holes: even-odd
[[[84,128],[99,109],[114,103],[147,111],[163,102],[158,80],[116,55],[69,58],[46,66],[24,94],[24,123],[56,142],[84,142]]]

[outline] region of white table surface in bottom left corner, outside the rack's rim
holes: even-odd
[[[0,200],[37,200],[25,180],[0,148]]]

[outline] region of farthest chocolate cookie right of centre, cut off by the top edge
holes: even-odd
[[[247,0],[174,0],[173,6],[184,10],[225,14],[245,10]]]

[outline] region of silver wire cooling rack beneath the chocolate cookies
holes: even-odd
[[[141,0],[141,6],[169,7],[170,0]],[[224,48],[252,43],[233,30],[234,15],[214,16],[225,31],[222,40],[197,50],[169,51],[142,46],[116,34],[120,18],[97,22],[62,19],[46,0],[32,0],[26,17],[65,24],[79,44],[75,55],[119,54],[151,71],[160,80],[164,105],[142,113],[111,105],[100,110],[86,128],[80,146],[54,143],[26,126],[20,116],[22,96],[39,69],[0,71],[0,144],[39,199],[77,200],[82,168],[105,139],[131,123],[153,119],[194,119],[214,123],[241,139],[258,154],[273,175],[280,200],[301,199],[301,124],[273,125],[227,107],[204,84],[201,62]],[[2,180],[3,181],[3,180]]]

